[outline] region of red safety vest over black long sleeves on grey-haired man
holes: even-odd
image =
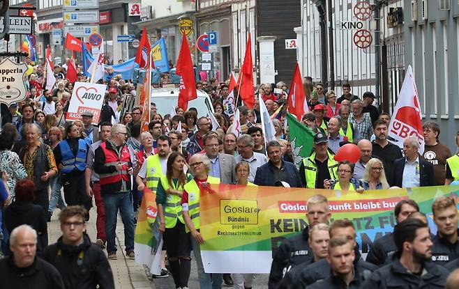
[[[116,164],[121,164],[121,171],[114,171],[113,173],[99,173],[100,185],[114,184],[123,179],[125,182],[129,182],[130,175],[128,175],[129,164],[132,164],[130,159],[130,153],[126,143],[121,148],[121,154],[118,156],[112,149],[107,149],[107,142],[104,141],[100,143],[100,148],[102,148],[105,155],[105,166],[114,166]]]

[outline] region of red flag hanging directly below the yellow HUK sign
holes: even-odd
[[[179,92],[179,107],[186,111],[188,102],[197,98],[196,80],[193,62],[191,61],[190,47],[185,33],[181,41],[179,59],[176,65],[176,75],[180,75],[180,92]]]

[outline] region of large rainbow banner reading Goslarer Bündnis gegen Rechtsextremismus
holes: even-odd
[[[308,226],[306,201],[314,194],[329,199],[331,219],[350,219],[359,249],[366,256],[373,241],[393,231],[393,209],[412,198],[436,233],[431,205],[459,186],[342,192],[325,189],[212,185],[216,194],[200,196],[202,263],[208,273],[269,273],[278,245]],[[459,192],[458,192],[459,193]]]

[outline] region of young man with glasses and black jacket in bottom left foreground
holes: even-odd
[[[80,205],[63,209],[59,215],[62,236],[43,251],[43,259],[61,273],[66,288],[114,288],[112,269],[105,253],[91,243]]]

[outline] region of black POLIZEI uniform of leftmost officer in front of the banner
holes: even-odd
[[[280,280],[296,265],[313,262],[313,251],[309,247],[308,239],[309,228],[306,227],[301,234],[289,237],[280,244],[271,264],[268,281],[269,289],[278,288]]]

